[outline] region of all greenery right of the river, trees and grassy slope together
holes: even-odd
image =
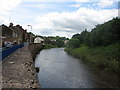
[[[120,74],[120,19],[73,35],[65,50],[91,65]]]

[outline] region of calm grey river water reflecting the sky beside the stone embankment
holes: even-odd
[[[40,67],[38,79],[42,88],[106,87],[81,60],[68,55],[64,48],[42,50],[35,66]]]

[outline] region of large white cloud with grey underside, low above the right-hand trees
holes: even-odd
[[[117,13],[117,9],[94,10],[89,8],[79,8],[73,12],[52,12],[36,18],[38,23],[36,31],[49,32],[49,30],[52,30],[52,32],[46,33],[46,35],[71,35],[73,33],[80,33],[84,29],[90,30],[96,24],[116,17]]]

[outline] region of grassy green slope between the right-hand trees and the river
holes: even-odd
[[[81,45],[80,48],[66,48],[65,51],[89,65],[120,74],[120,44],[97,48]]]

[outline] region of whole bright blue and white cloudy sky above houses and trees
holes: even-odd
[[[119,0],[0,0],[0,25],[21,25],[42,36],[71,38],[118,17]],[[28,26],[32,26],[31,27]]]

